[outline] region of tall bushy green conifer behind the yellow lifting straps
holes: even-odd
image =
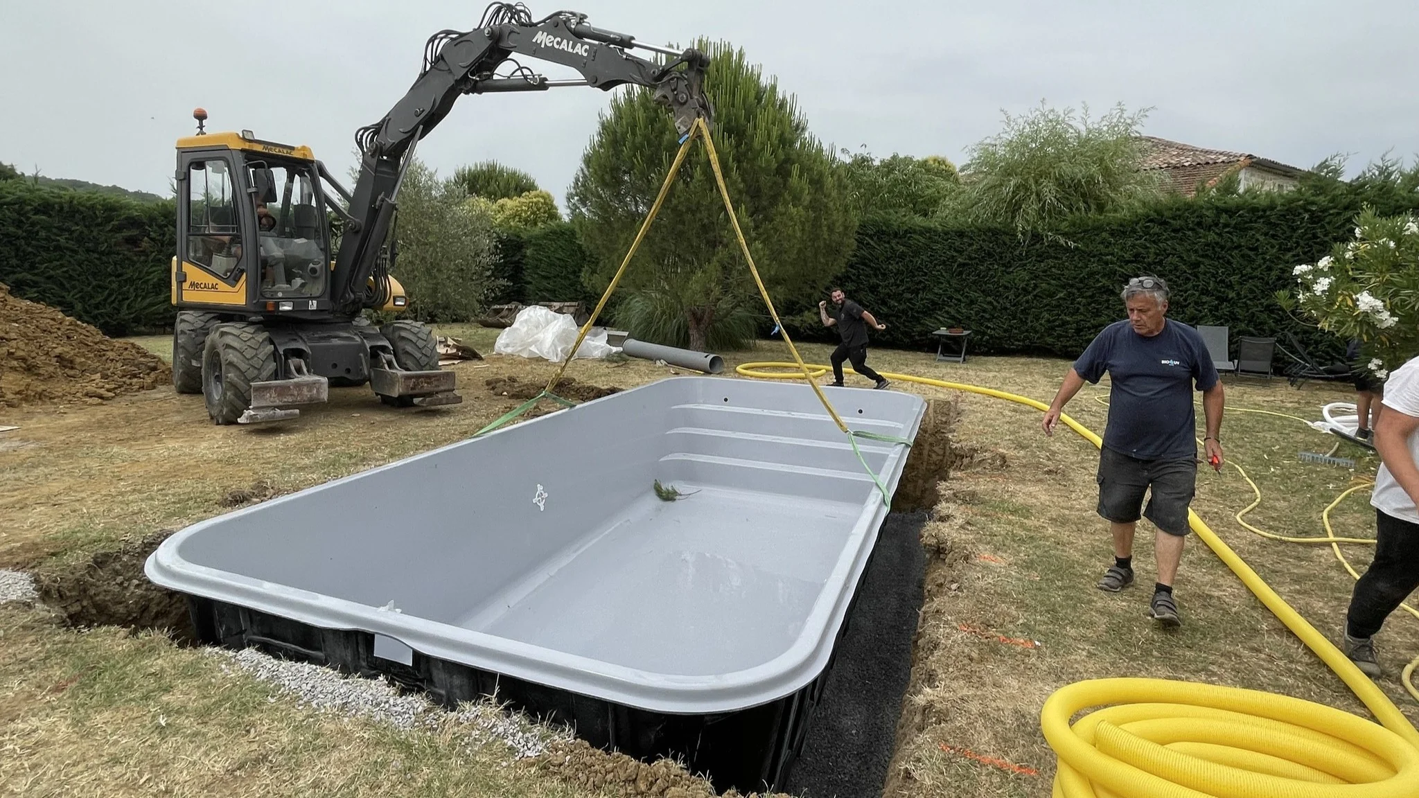
[[[812,301],[841,270],[854,220],[843,176],[792,95],[744,51],[705,44],[712,135],[755,263],[775,302]],[[587,287],[603,291],[650,210],[678,149],[670,114],[647,89],[619,94],[602,115],[568,193],[595,256]],[[735,346],[752,338],[762,301],[698,143],[622,283],[616,321],[639,338]]]

